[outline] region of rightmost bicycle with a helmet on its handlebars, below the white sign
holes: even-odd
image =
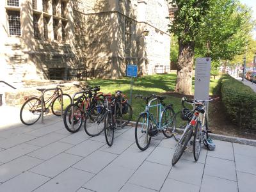
[[[193,141],[191,141],[191,145],[193,145],[193,156],[195,161],[197,161],[200,156],[202,142],[205,147],[209,148],[209,143],[205,142],[209,139],[209,133],[211,133],[208,129],[208,114],[206,112],[206,103],[209,101],[212,101],[212,99],[188,100],[186,97],[182,98],[183,109],[181,111],[181,115],[182,119],[188,120],[188,124],[180,137],[179,143],[177,143],[177,147],[172,158],[173,165],[179,161],[193,134],[194,138]],[[194,109],[192,112],[190,109],[185,108],[184,102],[193,105]]]

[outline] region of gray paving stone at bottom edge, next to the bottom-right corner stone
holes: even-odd
[[[200,192],[236,192],[237,182],[204,175]]]

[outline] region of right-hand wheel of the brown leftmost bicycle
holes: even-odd
[[[62,95],[63,97],[63,113],[68,105],[71,104],[71,97],[64,93]],[[53,101],[52,101],[52,113],[56,116],[61,116],[61,95],[58,95]]]

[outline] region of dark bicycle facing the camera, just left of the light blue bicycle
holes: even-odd
[[[127,96],[116,91],[115,96],[106,98],[108,113],[104,121],[104,134],[109,146],[113,145],[114,131],[129,124],[132,118],[132,108],[127,103]]]

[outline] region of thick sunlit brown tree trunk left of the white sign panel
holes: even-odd
[[[179,40],[179,58],[177,62],[175,90],[185,95],[191,95],[195,42],[187,42],[186,44],[182,42],[182,40]]]

